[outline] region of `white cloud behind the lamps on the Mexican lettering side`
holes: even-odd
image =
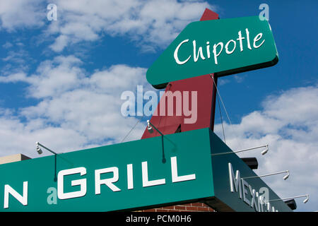
[[[264,100],[261,111],[242,117],[240,124],[225,124],[226,143],[232,150],[269,144],[269,153],[261,150],[240,153],[257,157],[257,174],[290,170],[283,175],[265,177],[264,181],[281,197],[310,194],[310,201],[297,199],[298,210],[317,210],[318,201],[318,87],[293,88]],[[222,126],[216,131],[223,138]]]

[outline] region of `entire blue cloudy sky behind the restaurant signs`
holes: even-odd
[[[257,16],[263,1],[0,1],[0,156],[38,157],[35,141],[58,153],[141,138],[147,117],[124,117],[122,92],[154,90],[146,71],[205,8],[220,18]],[[57,20],[47,5],[57,5]],[[279,196],[310,194],[318,210],[317,1],[266,1],[279,62],[219,79],[232,150],[269,144],[258,174]],[[224,109],[223,117],[225,117]],[[218,112],[218,110],[216,111]],[[223,138],[220,114],[216,133]]]

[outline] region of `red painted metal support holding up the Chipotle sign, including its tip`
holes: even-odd
[[[218,14],[206,8],[200,20],[216,19],[218,19]],[[179,130],[179,127],[182,132],[206,127],[210,127],[213,130],[214,114],[216,108],[216,86],[214,85],[211,76],[213,76],[215,83],[217,83],[217,78],[213,74],[187,78],[181,81],[168,83],[167,87],[165,88],[165,94],[163,97],[161,97],[157,109],[155,109],[155,113],[157,113],[157,115],[154,113],[151,117],[151,124],[158,128],[163,134],[175,133],[177,130]],[[168,91],[171,91],[171,93]],[[176,115],[177,101],[173,102],[173,115],[167,116],[167,101],[164,100],[164,98],[165,96],[172,95],[172,93],[175,93],[176,91],[179,91],[181,94],[184,94],[184,92],[189,92],[189,109],[193,109],[194,107],[194,103],[192,103],[192,91],[197,92],[197,111],[195,123],[184,123],[184,119],[189,119],[190,117],[185,116],[183,114],[183,110],[180,116]],[[182,95],[182,107],[183,99],[184,95]],[[163,112],[163,107],[165,107],[165,112]],[[160,109],[162,109],[161,112]],[[194,113],[192,111],[192,117],[194,117],[193,114]],[[148,129],[146,128],[141,139],[151,138],[154,136],[160,136],[160,133],[155,130],[153,133],[149,133]]]

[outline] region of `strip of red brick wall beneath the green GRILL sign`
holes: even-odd
[[[148,210],[140,210],[139,212],[215,212],[213,208],[204,203],[189,203],[177,206],[165,206],[161,208],[153,208]]]

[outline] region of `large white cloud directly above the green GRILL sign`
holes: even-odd
[[[81,64],[76,57],[60,56],[43,61],[30,76],[0,77],[1,83],[28,83],[27,95],[39,100],[17,112],[0,109],[1,155],[36,157],[35,141],[57,152],[122,141],[139,119],[122,116],[120,96],[136,85],[150,88],[146,69],[119,64],[90,75]],[[141,138],[145,127],[136,126],[125,141]]]

